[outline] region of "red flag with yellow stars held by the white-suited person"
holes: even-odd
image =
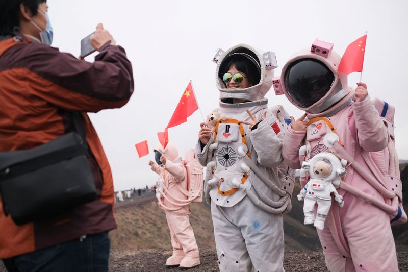
[[[195,100],[193,87],[191,82],[187,85],[179,104],[174,110],[173,116],[167,125],[167,128],[172,128],[187,121],[187,117],[198,110],[197,101]]]

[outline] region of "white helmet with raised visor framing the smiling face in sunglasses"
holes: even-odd
[[[258,69],[260,81],[253,83],[254,85],[248,88],[227,89],[222,80],[222,76],[223,73],[230,68],[226,67],[226,65],[234,56],[242,56],[252,62]],[[246,44],[235,45],[227,51],[218,49],[213,61],[217,63],[215,82],[220,91],[220,99],[239,98],[247,101],[261,100],[272,86],[274,76],[273,69],[277,67],[275,53],[267,52],[263,54],[263,52],[255,50]]]

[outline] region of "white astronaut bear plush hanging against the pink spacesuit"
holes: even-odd
[[[316,228],[323,229],[331,206],[331,193],[334,193],[335,201],[340,207],[343,207],[343,197],[337,193],[333,185],[333,183],[340,184],[340,178],[346,174],[343,167],[347,161],[342,161],[340,162],[335,155],[325,152],[314,156],[309,162],[303,162],[300,178],[305,178],[308,173],[310,180],[297,195],[297,199],[304,200],[305,225],[314,223]],[[316,219],[314,216],[315,204],[317,204]]]

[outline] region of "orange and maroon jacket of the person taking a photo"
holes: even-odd
[[[0,41],[0,152],[32,149],[73,131],[70,112],[82,112],[98,195],[69,213],[23,226],[0,205],[0,259],[116,228],[111,169],[86,112],[122,107],[132,93],[132,65],[120,46],[105,44],[89,63],[29,39]]]

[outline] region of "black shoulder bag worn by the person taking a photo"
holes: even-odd
[[[0,152],[3,212],[15,224],[50,218],[96,198],[80,114],[70,132],[31,150]]]

